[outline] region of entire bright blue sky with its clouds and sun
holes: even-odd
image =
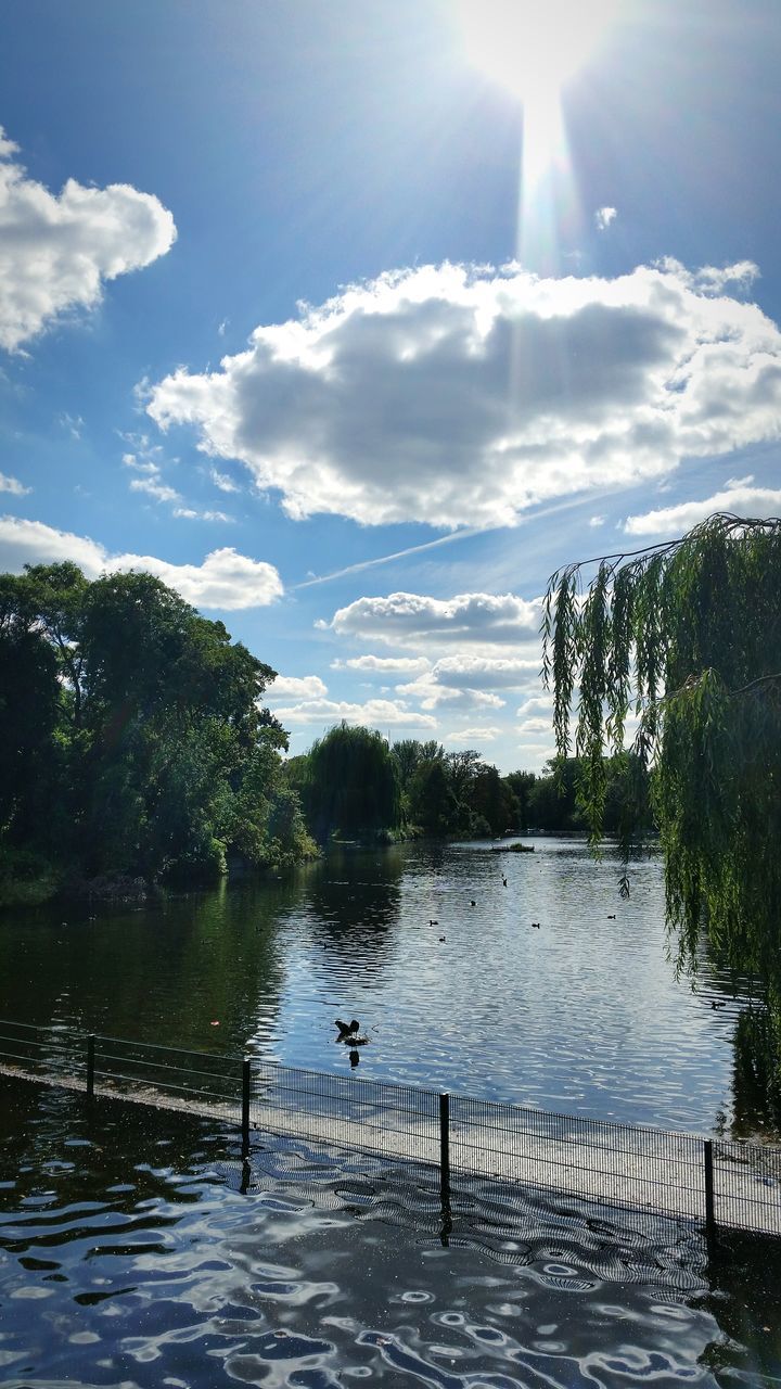
[[[553,751],[563,564],[781,514],[778,0],[4,0],[0,571]]]

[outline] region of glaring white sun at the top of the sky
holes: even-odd
[[[620,0],[457,0],[467,61],[525,104],[549,103],[591,57]]]

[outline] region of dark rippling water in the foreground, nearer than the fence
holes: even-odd
[[[172,1128],[172,1125],[175,1125]],[[778,1254],[253,1154],[206,1121],[0,1081],[0,1382],[618,1389],[781,1372]],[[773,1322],[771,1322],[773,1318]],[[763,1329],[768,1328],[768,1329]]]

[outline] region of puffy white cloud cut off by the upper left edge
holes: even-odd
[[[68,310],[100,303],[103,282],[164,256],[176,228],[128,183],[53,194],[13,156],[0,126],[0,346],[15,351]]]

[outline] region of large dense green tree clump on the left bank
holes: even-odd
[[[0,575],[0,857],[196,879],[311,853],[274,671],[150,574]]]

